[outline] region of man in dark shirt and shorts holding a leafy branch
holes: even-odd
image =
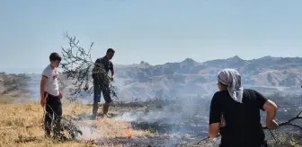
[[[98,111],[98,103],[101,101],[102,96],[105,99],[102,111],[104,116],[111,117],[107,114],[109,104],[112,102],[110,82],[114,80],[113,64],[110,61],[114,56],[115,51],[108,48],[106,56],[96,59],[93,67],[93,118],[96,117]],[[111,78],[108,76],[109,70],[111,71]]]

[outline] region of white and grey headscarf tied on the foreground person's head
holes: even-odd
[[[227,85],[227,91],[237,102],[242,102],[244,88],[241,86],[241,75],[235,70],[226,68],[218,73],[218,82]]]

